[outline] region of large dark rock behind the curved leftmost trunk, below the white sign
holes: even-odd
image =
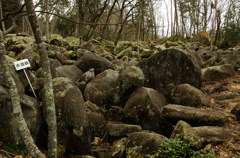
[[[21,94],[20,104],[32,137],[36,142],[39,142],[40,129],[43,125],[39,102],[35,98]],[[23,143],[17,120],[13,114],[11,98],[7,89],[2,86],[0,86],[0,109],[0,139],[10,144]]]

